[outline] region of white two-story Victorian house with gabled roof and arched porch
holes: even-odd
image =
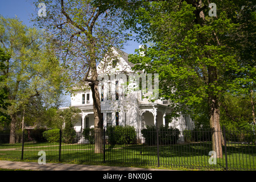
[[[142,95],[152,96],[152,92],[142,94],[142,89],[130,91],[129,88],[134,88],[133,84],[138,83],[133,82],[132,84],[129,81],[133,76],[132,73],[134,73],[131,70],[134,65],[129,63],[127,53],[117,49],[113,49],[113,53],[118,56],[118,60],[112,59],[107,64],[106,61],[102,61],[97,67],[98,73],[100,73],[98,80],[104,77],[104,81],[101,82],[98,89],[101,96],[101,111],[105,128],[109,125],[129,125],[138,130],[145,128],[146,125],[169,125],[180,131],[193,128],[191,118],[186,115],[176,118],[172,122],[167,121],[165,116],[172,112],[172,108],[168,107],[169,101],[155,100],[150,102]],[[140,75],[142,85],[146,84],[143,76],[145,74]],[[146,76],[148,75],[146,74]],[[126,88],[125,83],[127,81],[129,81],[129,85]],[[152,85],[156,87],[158,85],[157,81],[154,79]],[[154,86],[152,86],[153,89],[155,89]],[[124,91],[125,89],[128,89],[127,93]],[[157,90],[154,93],[156,94],[156,92]],[[93,100],[90,89],[75,92],[71,97],[71,106],[81,110],[81,117],[75,125],[76,131],[94,127]]]

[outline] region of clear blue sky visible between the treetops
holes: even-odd
[[[0,14],[5,18],[15,18],[17,16],[27,26],[33,26],[30,22],[31,14],[38,13],[38,7],[32,3],[31,0],[0,0]],[[126,53],[134,53],[135,49],[139,48],[139,43],[131,40],[125,46]]]

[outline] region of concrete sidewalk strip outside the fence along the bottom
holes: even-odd
[[[170,171],[166,169],[117,167],[117,166],[94,166],[84,164],[63,164],[46,163],[38,164],[36,162],[13,162],[0,160],[0,168],[3,169],[25,169],[34,171]]]

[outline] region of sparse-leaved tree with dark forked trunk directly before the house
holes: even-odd
[[[36,1],[38,5],[40,1]],[[71,71],[73,87],[92,90],[95,150],[102,148],[102,114],[98,93],[97,64],[106,60],[113,47],[121,48],[127,34],[118,9],[105,2],[97,1],[44,1],[46,17],[36,15],[39,27],[55,35],[59,44],[59,56],[63,65]]]

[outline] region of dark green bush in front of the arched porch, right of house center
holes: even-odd
[[[157,144],[156,126],[147,126],[147,129],[142,129],[141,132],[148,145],[152,146]],[[158,130],[159,144],[176,144],[179,135],[180,131],[178,129],[161,126]]]

